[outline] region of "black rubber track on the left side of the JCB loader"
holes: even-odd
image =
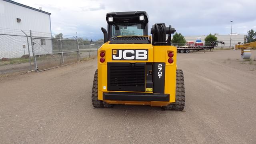
[[[98,100],[98,69],[95,71],[93,84],[92,84],[92,106],[95,108],[111,108],[112,104],[108,104],[103,102],[102,100]]]

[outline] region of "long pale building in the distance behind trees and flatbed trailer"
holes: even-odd
[[[230,46],[230,34],[228,35],[215,35],[218,38],[218,41],[222,41],[225,42],[225,47],[229,47]],[[244,34],[236,34],[236,33],[232,33],[231,36],[231,47],[234,47],[235,44],[237,44],[238,42],[243,43],[245,41],[245,36]],[[204,38],[206,38],[206,36],[184,36],[184,38],[186,39],[186,41],[196,41],[196,38],[200,37],[202,39],[202,42],[204,42]],[[220,44],[218,46],[221,46]]]

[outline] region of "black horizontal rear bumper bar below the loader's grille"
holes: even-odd
[[[160,101],[169,102],[169,94],[134,93],[134,92],[103,92],[103,100],[122,101]]]

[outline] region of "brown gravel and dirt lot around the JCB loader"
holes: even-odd
[[[239,53],[178,54],[184,111],[93,108],[96,60],[2,78],[0,143],[256,144],[256,61]]]

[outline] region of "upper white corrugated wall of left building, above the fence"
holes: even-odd
[[[0,27],[50,34],[50,15],[0,0]]]

